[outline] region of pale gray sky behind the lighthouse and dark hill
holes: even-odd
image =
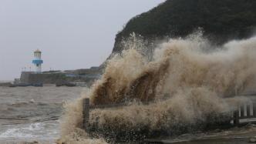
[[[40,49],[43,70],[101,64],[115,35],[164,0],[0,0],[0,80],[18,78]]]

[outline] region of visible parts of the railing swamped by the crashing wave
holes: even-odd
[[[89,126],[89,111],[93,109],[110,109],[120,108],[127,106],[127,103],[112,104],[112,105],[90,105],[89,99],[83,99],[83,127],[84,129]],[[231,112],[233,115],[231,123],[238,126],[241,123],[256,122],[256,102],[247,103],[237,106],[237,109]],[[255,118],[255,119],[254,119]]]

